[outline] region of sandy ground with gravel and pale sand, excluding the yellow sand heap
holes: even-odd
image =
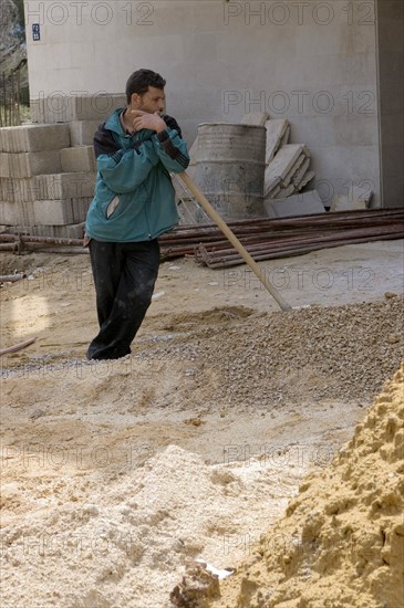
[[[246,266],[164,262],[131,356],[85,360],[85,254],[2,254],[2,606],[165,608],[234,567],[398,367],[403,242]]]

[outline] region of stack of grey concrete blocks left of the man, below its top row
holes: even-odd
[[[82,125],[82,133],[90,130]],[[0,128],[1,226],[39,235],[83,235],[95,156],[91,146],[70,147],[70,134],[69,124]]]

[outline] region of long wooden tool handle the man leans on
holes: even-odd
[[[201,207],[206,211],[206,213],[209,216],[209,218],[220,228],[221,232],[227,237],[227,239],[230,241],[230,243],[234,245],[235,249],[239,252],[246,264],[250,266],[252,272],[258,276],[262,285],[266,287],[267,291],[271,294],[271,296],[277,301],[279,306],[282,308],[282,311],[291,311],[292,307],[290,304],[288,304],[283,297],[280,295],[280,293],[271,285],[271,283],[267,280],[265,276],[265,273],[260,271],[259,265],[255,260],[252,260],[251,255],[248,253],[245,247],[240,243],[236,234],[230,230],[230,228],[227,226],[225,220],[220,218],[219,213],[213,208],[208,199],[201,193],[201,191],[195,186],[194,181],[190,179],[188,174],[186,171],[178,174],[178,177],[182,178],[188,190],[194,195],[194,197],[197,199],[198,202],[200,202]]]

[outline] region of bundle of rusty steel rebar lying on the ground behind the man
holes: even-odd
[[[404,238],[404,209],[341,211],[283,219],[251,219],[228,226],[256,261],[287,258],[343,244]],[[159,237],[164,260],[191,255],[209,268],[242,263],[239,253],[213,223],[188,224]],[[63,249],[61,249],[63,248]],[[82,239],[0,234],[0,252],[43,250],[85,252]]]

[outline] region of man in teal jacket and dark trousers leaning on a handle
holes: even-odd
[[[165,80],[138,70],[126,83],[127,107],[115,111],[94,137],[95,196],[85,223],[100,332],[89,359],[117,359],[152,302],[159,265],[157,238],[178,222],[169,171],[189,164],[174,118],[162,115]]]

